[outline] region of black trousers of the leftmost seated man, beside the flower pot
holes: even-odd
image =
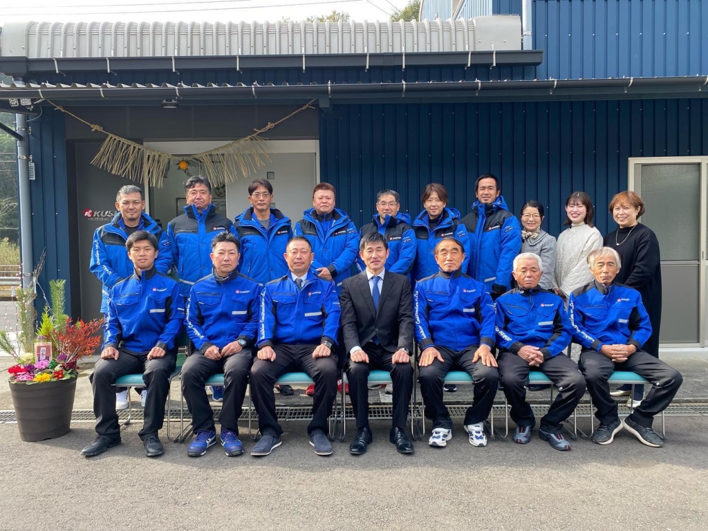
[[[165,402],[170,389],[169,377],[175,370],[177,353],[168,352],[163,358],[147,359],[148,350],[137,353],[118,349],[118,360],[98,360],[89,378],[93,387],[93,413],[96,414],[96,433],[115,438],[120,435],[118,413],[115,412],[115,380],[121,376],[142,372],[147,389],[141,439],[157,435],[165,418]]]

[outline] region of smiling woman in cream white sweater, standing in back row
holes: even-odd
[[[585,192],[573,192],[566,199],[568,228],[558,236],[556,295],[567,300],[573,290],[593,281],[588,254],[603,246],[603,236],[593,225],[593,201]]]

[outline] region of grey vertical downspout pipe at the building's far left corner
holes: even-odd
[[[24,84],[15,79],[16,84]],[[32,202],[30,200],[30,135],[27,115],[16,114],[17,133],[22,139],[17,141],[17,174],[20,210],[20,260],[22,263],[22,285],[33,285],[32,273],[34,258],[32,255]]]

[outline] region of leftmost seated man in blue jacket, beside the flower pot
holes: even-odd
[[[176,338],[184,320],[179,285],[155,269],[157,238],[136,231],[125,241],[133,274],[110,289],[105,314],[105,343],[91,375],[96,440],[81,450],[86,457],[120,445],[115,412],[115,380],[143,373],[147,399],[138,432],[148,457],[164,453],[157,433],[165,416],[169,377],[177,362]]]

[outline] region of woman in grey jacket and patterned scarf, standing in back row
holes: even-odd
[[[545,209],[536,200],[527,201],[521,207],[521,252],[534,253],[543,262],[543,275],[538,283],[544,290],[553,291],[556,286],[556,239],[541,228]]]

